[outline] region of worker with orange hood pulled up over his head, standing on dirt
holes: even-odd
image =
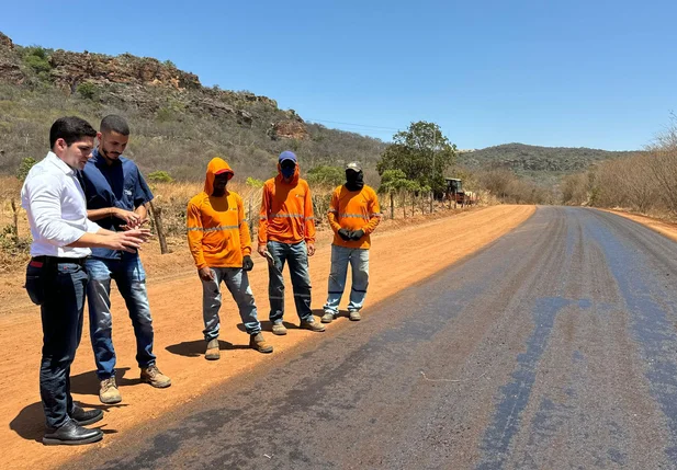
[[[218,310],[222,282],[237,303],[250,335],[249,346],[260,353],[273,351],[261,333],[247,276],[253,262],[242,199],[226,188],[233,175],[228,163],[221,158],[212,159],[207,165],[204,191],[188,203],[188,244],[202,280],[203,333],[207,343],[205,358],[211,360],[221,357]]]

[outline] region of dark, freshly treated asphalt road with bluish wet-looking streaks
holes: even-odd
[[[80,467],[677,468],[677,243],[633,221],[539,208],[364,317]]]

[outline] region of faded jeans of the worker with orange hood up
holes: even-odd
[[[204,340],[210,342],[218,337],[221,322],[221,283],[224,282],[237,303],[240,318],[249,334],[261,332],[257,318],[257,306],[249,286],[249,276],[241,267],[212,267],[214,280],[202,280],[202,317],[204,318]]]

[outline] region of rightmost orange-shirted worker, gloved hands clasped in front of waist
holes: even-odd
[[[334,242],[329,294],[321,322],[331,323],[338,316],[349,263],[352,271],[352,287],[348,313],[350,320],[360,321],[360,310],[364,305],[369,286],[370,233],[381,221],[379,197],[374,190],[364,185],[360,163],[352,162],[346,165],[346,184],[334,190],[327,217],[334,230]]]

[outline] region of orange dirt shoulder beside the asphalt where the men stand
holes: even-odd
[[[371,272],[372,285],[368,297],[364,317],[376,311],[376,303],[396,295],[410,286],[440,272],[451,263],[492,243],[499,237],[519,226],[534,211],[530,206],[497,206],[483,210],[464,213],[454,217],[426,222],[374,236]],[[258,261],[258,260],[257,260]],[[311,261],[314,285],[313,305],[319,309],[325,300],[326,279],[329,272],[329,245],[318,247]],[[171,271],[171,266],[167,266]],[[156,423],[163,415],[173,415],[188,409],[190,402],[212,390],[229,402],[238,399],[225,392],[225,385],[239,379],[249,380],[264,364],[281,364],[296,356],[297,347],[319,347],[350,325],[345,319],[330,325],[326,333],[311,333],[290,330],[287,336],[277,337],[268,333],[275,352],[261,355],[247,347],[248,336],[238,329],[239,317],[230,300],[222,310],[222,359],[216,363],[204,360],[202,340],[201,285],[194,272],[168,275],[162,282],[149,280],[149,298],[154,312],[156,330],[155,352],[158,366],[168,374],[173,385],[166,390],[155,390],[138,383],[138,368],[134,362],[134,335],[122,300],[114,298],[114,342],[119,355],[119,380],[123,402],[120,405],[100,406],[105,410],[102,429],[106,433],[101,444],[78,448],[49,448],[38,443],[43,431],[43,415],[38,402],[37,369],[40,364],[41,330],[40,312],[36,308],[26,309],[24,303],[18,309],[3,307],[0,316],[0,468],[53,468],[66,463],[79,454],[95,450],[101,452],[120,439],[136,436],[138,426],[157,428]],[[264,263],[258,261],[251,274],[251,284],[257,297],[259,317],[268,317],[267,283]],[[291,289],[290,289],[291,290]],[[228,296],[226,295],[227,299]],[[287,306],[291,306],[291,298]],[[380,321],[388,313],[380,314]],[[285,320],[297,323],[292,310]],[[291,325],[290,323],[290,325]],[[375,323],[374,323],[375,324]],[[269,328],[264,323],[264,329]],[[87,322],[86,322],[87,330]],[[321,362],[320,357],[315,360]],[[71,387],[76,400],[86,405],[99,405],[98,382],[93,372],[93,358],[87,334],[78,349],[72,367]],[[233,379],[235,380],[227,380]],[[255,393],[250,397],[258,403]],[[262,413],[267,414],[267,413]],[[134,439],[137,439],[135,437]]]

